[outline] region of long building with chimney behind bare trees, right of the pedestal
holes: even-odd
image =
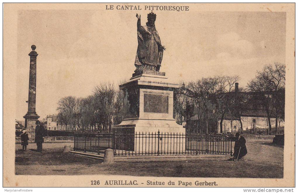
[[[236,133],[268,134],[268,116],[260,106],[261,100],[254,98],[255,92],[240,91],[238,83],[235,90],[221,94],[210,95],[206,100],[201,93],[194,93],[182,86],[176,94],[176,122],[186,127],[190,133]],[[199,97],[201,98],[199,98]],[[203,95],[204,96],[204,95]],[[200,100],[201,107],[196,108],[196,99]],[[212,98],[213,97],[213,98]],[[281,94],[281,100],[284,95]],[[222,113],[220,105],[224,105],[225,113]],[[205,108],[205,111],[202,111]],[[269,109],[273,112],[273,107]],[[271,113],[271,133],[284,133],[284,120],[282,112],[278,116]],[[198,113],[203,116],[199,119]],[[222,123],[221,123],[222,122]],[[277,124],[276,124],[277,122]],[[241,129],[242,124],[242,129]],[[222,131],[221,131],[222,125]],[[276,126],[277,125],[277,126]],[[276,128],[275,128],[276,127]]]

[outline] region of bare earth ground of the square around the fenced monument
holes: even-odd
[[[70,152],[65,145],[73,143],[44,143],[43,152],[34,151],[30,143],[27,151],[15,147],[17,175],[132,175],[158,177],[229,177],[283,178],[283,146],[270,142],[247,141],[248,154],[238,162],[224,160],[116,162],[104,164]],[[154,168],[154,169],[153,169]]]

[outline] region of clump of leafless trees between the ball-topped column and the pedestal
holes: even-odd
[[[68,130],[100,130],[111,132],[113,122],[123,117],[123,91],[111,83],[102,83],[86,98],[66,96],[58,102],[58,121]]]

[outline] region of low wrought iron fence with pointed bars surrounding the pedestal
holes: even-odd
[[[74,133],[74,150],[104,154],[113,149],[118,156],[146,155],[232,155],[232,142],[228,136],[198,133]]]

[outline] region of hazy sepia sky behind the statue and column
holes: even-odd
[[[19,10],[17,117],[27,113],[31,45],[36,45],[36,112],[56,114],[64,96],[86,97],[96,85],[129,79],[137,49],[136,13],[145,10]],[[266,64],[285,63],[284,12],[156,13],[170,82],[239,75],[244,87]]]

